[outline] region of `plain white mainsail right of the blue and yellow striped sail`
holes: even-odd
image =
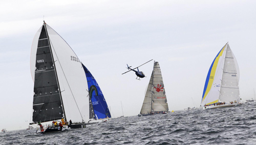
[[[236,57],[227,44],[219,101],[229,103],[234,100],[240,101],[239,68]]]

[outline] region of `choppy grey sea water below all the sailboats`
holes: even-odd
[[[0,133],[0,144],[256,144],[256,104],[124,117],[83,129]]]

